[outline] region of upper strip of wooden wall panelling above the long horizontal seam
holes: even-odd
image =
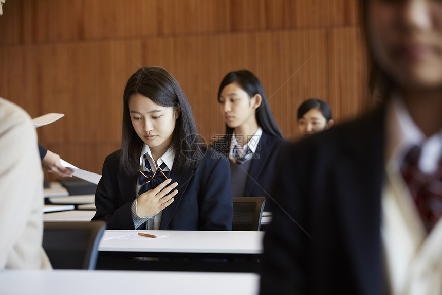
[[[14,0],[0,44],[358,26],[359,0]]]

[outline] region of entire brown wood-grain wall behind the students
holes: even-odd
[[[371,106],[358,0],[8,0],[0,16],[0,96],[32,117],[68,162],[101,173],[120,146],[122,93],[140,66],[171,72],[201,135],[224,132],[220,81],[247,68],[286,138],[310,97],[342,122]],[[46,176],[53,179],[52,176]]]

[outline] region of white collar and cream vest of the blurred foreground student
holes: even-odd
[[[432,173],[441,156],[442,131],[427,138],[400,97],[386,111],[385,183],[381,233],[392,294],[442,294],[442,220],[427,235],[400,173],[404,157],[421,145],[419,168]]]

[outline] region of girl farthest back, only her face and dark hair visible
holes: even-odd
[[[298,108],[297,119],[298,130],[304,137],[328,129],[334,124],[330,106],[319,98],[304,101]]]

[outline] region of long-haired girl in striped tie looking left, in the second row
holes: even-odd
[[[265,210],[275,208],[271,192],[280,148],[288,143],[275,123],[261,81],[250,71],[228,73],[218,90],[226,134],[212,147],[230,158],[234,197],[265,197]]]

